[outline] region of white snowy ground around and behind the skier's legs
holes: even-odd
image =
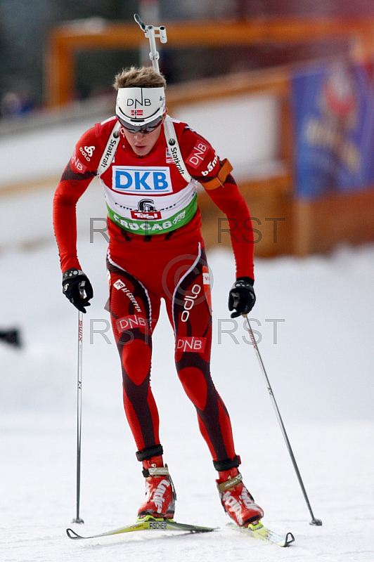
[[[122,412],[117,351],[109,331],[97,332],[108,323],[105,244],[82,240],[81,246],[82,265],[95,289],[84,318],[85,524],[76,525],[88,534],[131,523],[144,484]],[[252,327],[262,337],[259,349],[322,527],[309,525],[243,327],[232,336],[224,333],[235,328],[226,309],[231,254],[214,251],[209,261],[214,273],[212,374],[231,412],[243,477],[264,507],[264,522],[273,530],[292,530],[295,544],[280,549],[225,528],[212,462],[174,371],[165,313],[155,332],[153,391],[179,497],[176,520],[222,530],[193,536],[134,533],[79,543],[67,538],[65,528],[75,516],[77,311],[61,293],[51,242],[0,255],[0,327],[20,325],[24,341],[21,351],[0,346],[1,562],[374,560],[374,247],[256,263]]]

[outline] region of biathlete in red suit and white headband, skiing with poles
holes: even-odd
[[[98,176],[108,207],[108,306],[122,365],[124,411],[146,478],[138,517],[173,518],[175,509],[150,388],[152,334],[165,299],[176,370],[218,472],[221,504],[233,521],[246,526],[264,511],[243,484],[231,421],[209,371],[212,311],[198,183],[236,229],[231,236],[236,282],[228,297],[232,318],[249,313],[255,301],[250,211],[228,160],[221,162],[205,138],[167,115],[161,74],[131,67],[117,74],[114,86],[116,115],[80,138],[53,201],[63,293],[82,312],[93,297],[77,257],[75,207]]]

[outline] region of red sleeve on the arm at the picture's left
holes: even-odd
[[[96,176],[101,152],[93,127],[79,139],[53,198],[53,228],[63,272],[70,268],[82,269],[77,256],[76,206]]]

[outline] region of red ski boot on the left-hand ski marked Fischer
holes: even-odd
[[[146,499],[138,510],[138,518],[152,515],[172,519],[176,493],[167,464],[164,466],[161,456],[143,461],[143,476],[146,478]]]

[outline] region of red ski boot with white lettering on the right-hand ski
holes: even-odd
[[[257,523],[264,516],[264,511],[254,503],[253,497],[242,482],[242,475],[233,468],[219,472],[217,488],[221,504],[226,514],[239,527],[246,527],[249,523]]]

